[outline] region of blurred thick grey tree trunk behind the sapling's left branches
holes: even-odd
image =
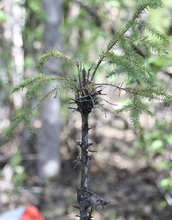
[[[48,49],[60,49],[59,25],[60,25],[60,0],[44,0],[44,8],[47,13],[47,23],[44,31],[45,51]],[[52,72],[53,70],[53,72]],[[60,74],[60,63],[50,60],[46,63],[43,73],[47,75]],[[45,92],[52,88],[45,87]],[[60,102],[59,98],[50,97],[43,102],[40,109],[41,128],[37,137],[38,175],[41,178],[55,177],[60,171],[59,132],[60,132]]]

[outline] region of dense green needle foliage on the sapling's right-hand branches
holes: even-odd
[[[158,0],[140,1],[122,34],[116,33],[106,51],[102,52],[100,56],[102,61],[107,60],[113,66],[107,77],[117,77],[122,74],[127,78],[126,87],[115,86],[119,92],[123,90],[128,93],[130,98],[129,103],[119,109],[117,113],[129,111],[131,123],[136,129],[139,127],[140,114],[146,113],[153,116],[141,98],[147,98],[149,101],[159,100],[168,107],[172,103],[172,96],[155,84],[154,74],[148,68],[148,60],[152,52],[156,55],[167,54],[161,41],[166,42],[168,39],[147,21],[140,19],[141,14],[146,13],[148,8],[156,9],[161,6],[162,2]],[[151,40],[147,35],[148,32],[159,41]]]

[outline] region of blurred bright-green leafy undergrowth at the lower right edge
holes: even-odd
[[[147,163],[150,178],[164,198],[162,204],[169,206],[172,205],[170,195],[172,190],[172,162],[170,158],[172,133],[170,125],[171,122],[156,121],[153,128],[142,128],[134,143],[142,155],[142,160]],[[152,170],[158,172],[160,178],[154,179]]]

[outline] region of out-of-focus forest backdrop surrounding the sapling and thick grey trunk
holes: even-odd
[[[72,161],[79,152],[74,140],[80,139],[77,130],[80,121],[68,108],[70,95],[60,93],[61,129],[57,147],[61,171],[55,178],[42,180],[36,171],[36,134],[27,139],[31,142],[27,148],[23,126],[8,142],[4,136],[12,117],[36,103],[36,98],[27,102],[27,91],[11,91],[23,79],[38,73],[38,59],[48,37],[44,27],[49,17],[44,3],[43,0],[0,1],[0,213],[31,203],[41,209],[47,220],[75,219],[72,205],[76,201],[79,168],[74,170]],[[131,18],[137,3],[137,0],[61,1],[60,50],[73,58],[82,54],[84,66],[90,68],[113,33],[122,30]],[[164,0],[163,8],[150,10],[143,17],[169,37],[165,45],[169,54],[161,57],[154,54],[149,65],[158,84],[171,93],[172,2]],[[67,63],[62,62],[61,69],[64,74],[77,73],[76,67]],[[108,71],[109,66],[103,64],[97,81],[110,82],[106,78]],[[108,102],[120,105],[127,101],[127,97],[121,100],[111,89],[104,92],[108,94]],[[111,200],[104,217],[94,213],[93,219],[172,219],[172,110],[159,102],[151,108],[156,116],[152,119],[143,115],[140,132],[130,128],[127,114],[116,116],[115,106],[106,102],[102,111],[92,114],[90,139],[98,153],[90,165],[90,186]],[[39,129],[42,120],[39,108],[32,120]]]

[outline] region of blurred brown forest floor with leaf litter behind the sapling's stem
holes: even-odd
[[[9,181],[4,180],[2,173],[9,172],[9,160],[1,160],[0,213],[20,205],[33,204],[40,208],[45,220],[78,219],[75,217],[78,211],[73,205],[77,204],[76,185],[80,184],[80,168],[78,165],[74,169],[73,160],[79,153],[74,140],[80,138],[80,121],[76,115],[76,118],[67,119],[64,123],[68,129],[62,129],[62,166],[58,178],[42,183],[35,174],[30,173],[24,186],[16,187],[10,182],[10,178]],[[95,143],[93,149],[97,153],[93,153],[90,162],[89,188],[111,201],[106,210],[100,208],[99,212],[94,211],[93,219],[171,220],[170,192],[167,193],[160,187],[160,181],[167,173],[151,167],[145,159],[145,151],[133,146],[137,134],[130,129],[128,121],[122,117],[114,118],[109,111],[107,117],[93,114],[90,124],[90,140]],[[5,152],[13,147],[12,142],[5,147],[4,157]],[[171,149],[167,153],[172,154]],[[158,156],[159,154],[156,155]]]

